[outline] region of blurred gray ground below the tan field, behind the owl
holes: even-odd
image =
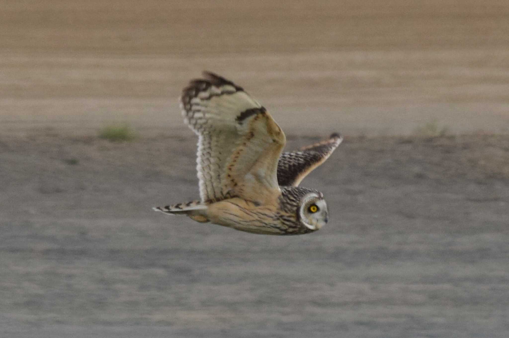
[[[2,336],[507,336],[508,137],[347,138],[290,237],[152,212],[197,196],[194,141],[0,139]]]

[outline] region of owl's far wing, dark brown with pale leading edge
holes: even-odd
[[[333,133],[328,140],[299,151],[282,153],[277,163],[277,183],[280,186],[298,186],[304,177],[329,158],[342,141],[340,134]]]

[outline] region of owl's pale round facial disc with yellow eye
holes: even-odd
[[[297,210],[297,218],[310,230],[318,230],[329,220],[327,203],[322,193],[310,192],[305,194]]]

